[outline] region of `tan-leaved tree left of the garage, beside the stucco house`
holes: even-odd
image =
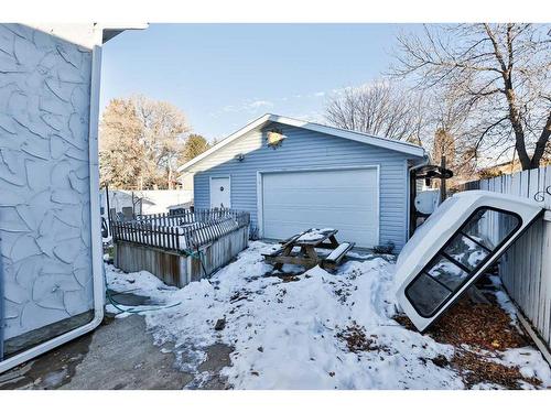
[[[100,123],[101,181],[120,188],[172,188],[190,128],[175,106],[145,97],[114,99]]]

